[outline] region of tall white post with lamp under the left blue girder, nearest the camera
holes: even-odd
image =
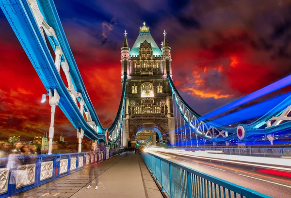
[[[60,96],[57,90],[53,90],[53,96],[51,90],[49,90],[49,105],[51,106],[51,118],[50,118],[50,127],[49,127],[49,151],[48,154],[51,154],[52,151],[52,140],[54,136],[54,115],[56,112],[56,106],[58,106],[60,101]]]

